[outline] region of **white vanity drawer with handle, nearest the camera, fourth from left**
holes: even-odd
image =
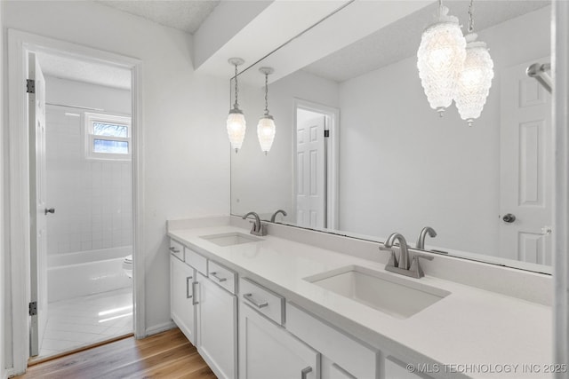
[[[279,325],[284,323],[284,297],[261,287],[252,280],[239,280],[239,293],[245,304],[264,314]]]

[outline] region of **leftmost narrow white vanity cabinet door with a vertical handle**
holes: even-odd
[[[170,315],[189,342],[196,344],[196,309],[192,305],[193,268],[170,256]]]

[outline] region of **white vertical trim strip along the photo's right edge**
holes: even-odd
[[[554,1],[551,11],[551,50],[553,52],[553,125],[555,135],[555,229],[553,278],[555,280],[554,359],[569,361],[569,3]],[[556,378],[569,378],[557,373]]]

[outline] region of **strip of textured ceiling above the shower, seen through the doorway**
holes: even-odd
[[[44,75],[123,90],[131,88],[131,71],[126,68],[44,52],[38,52],[37,59]]]

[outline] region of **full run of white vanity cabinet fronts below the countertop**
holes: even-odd
[[[171,248],[172,320],[218,378],[429,379],[238,268],[173,240]]]

